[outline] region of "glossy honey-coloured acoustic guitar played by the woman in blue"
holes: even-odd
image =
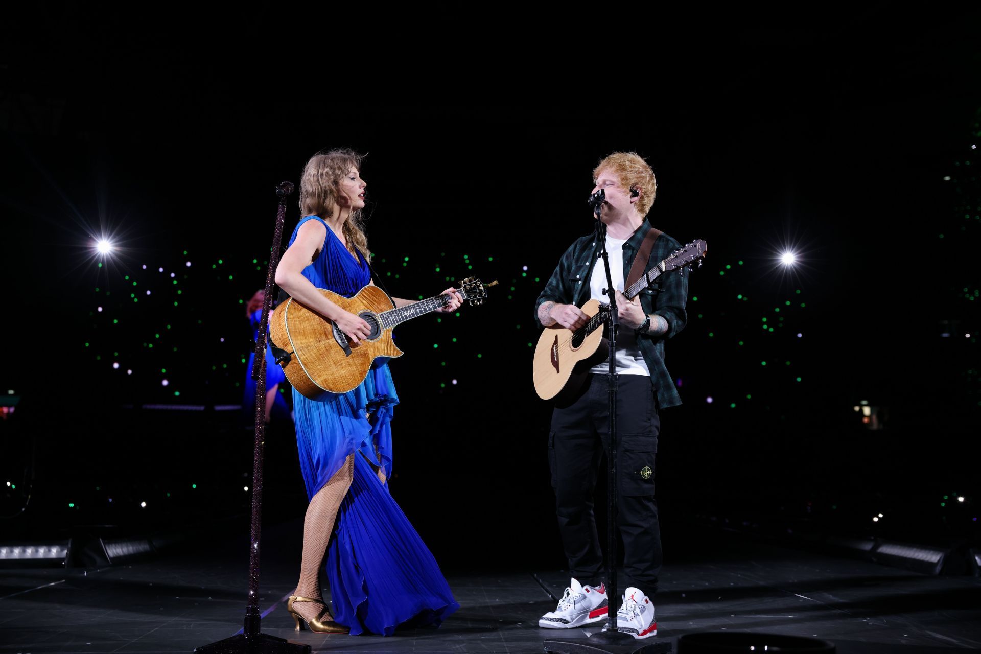
[[[483,304],[488,287],[496,283],[484,284],[468,277],[460,282],[456,292],[472,305]],[[441,309],[450,301],[448,294],[438,295],[395,308],[378,286],[365,286],[353,297],[343,297],[326,288],[317,290],[368,323],[371,333],[351,347],[347,334],[333,322],[292,298],[276,308],[269,318],[273,356],[289,383],[311,399],[325,392],[346,393],[364,381],[375,359],[402,356],[391,340],[392,328]]]

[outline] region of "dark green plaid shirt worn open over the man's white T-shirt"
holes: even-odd
[[[630,272],[634,257],[637,256],[637,251],[649,228],[650,224],[645,219],[634,235],[624,243],[624,277]],[[542,302],[575,304],[577,307],[582,307],[590,299],[590,279],[599,254],[595,240],[594,234],[578,238],[562,255],[555,272],[548,278],[542,294],[535,303],[535,321],[539,327],[542,327],[539,321],[539,307]],[[672,252],[680,248],[678,241],[662,233],[654,241],[645,271],[667,259]],[[688,299],[688,271],[682,269],[680,274],[677,271],[665,273],[659,277],[657,288],[660,290],[648,288],[641,291],[641,306],[645,314],[657,314],[663,317],[667,321],[668,330],[656,337],[645,334],[638,339],[637,345],[650,372],[650,383],[657,394],[657,403],[661,408],[667,408],[681,404],[681,397],[675,388],[674,380],[664,365],[664,341],[681,331],[688,321],[688,313],[685,311],[685,302]]]

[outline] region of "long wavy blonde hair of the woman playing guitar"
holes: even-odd
[[[327,220],[334,216],[340,208],[340,180],[352,168],[360,171],[362,159],[363,155],[349,148],[321,151],[311,157],[303,167],[303,175],[300,177],[300,219],[304,216],[319,216]],[[343,232],[351,254],[354,254],[351,249],[354,247],[365,259],[370,259],[368,236],[365,235],[360,209],[352,211],[344,221]]]

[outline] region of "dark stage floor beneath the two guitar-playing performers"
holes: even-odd
[[[439,630],[393,637],[296,633],[282,600],[293,588],[300,525],[267,528],[263,630],[314,651],[541,652],[542,640],[586,630],[538,629],[567,576],[560,571],[447,577],[461,609]],[[690,530],[664,569],[659,638],[705,630],[818,636],[839,652],[940,652],[981,647],[981,582],[924,577]],[[190,652],[241,627],[245,557],[206,549],[98,570],[0,571],[0,652]],[[245,546],[239,543],[239,550]],[[485,566],[485,569],[488,568]]]

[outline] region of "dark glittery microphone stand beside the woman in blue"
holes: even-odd
[[[266,299],[262,303],[259,337],[255,343],[255,363],[252,378],[255,379],[255,449],[252,460],[252,538],[248,548],[248,606],[245,609],[245,627],[241,633],[210,645],[197,647],[195,652],[226,654],[238,652],[262,652],[276,654],[310,654],[310,645],[290,642],[268,633],[262,633],[259,614],[259,536],[262,531],[262,459],[266,443],[266,327],[269,325],[269,307],[273,299],[273,276],[280,262],[280,244],[283,242],[283,222],[286,216],[286,198],[293,192],[293,184],[284,181],[276,187],[280,207],[276,213],[276,229],[273,233],[273,249],[266,271]]]

